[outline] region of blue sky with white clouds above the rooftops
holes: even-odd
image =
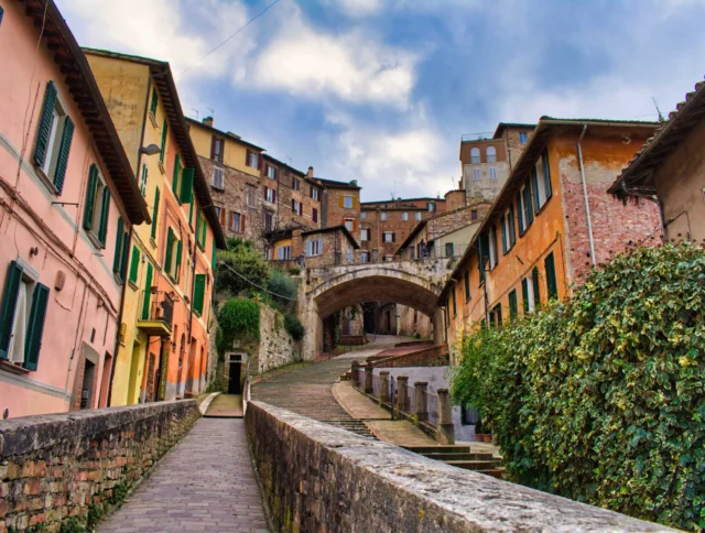
[[[705,0],[56,0],[82,45],[171,62],[184,112],[366,200],[435,196],[464,133],[654,120],[705,74]],[[213,110],[213,111],[212,111]]]

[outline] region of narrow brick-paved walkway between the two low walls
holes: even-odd
[[[100,532],[268,532],[242,420],[200,418]]]

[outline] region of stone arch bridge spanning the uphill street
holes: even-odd
[[[323,350],[323,322],[351,305],[388,301],[431,317],[434,341],[443,344],[444,312],[437,298],[452,265],[445,259],[345,264],[305,269],[299,309],[306,328],[304,353]]]

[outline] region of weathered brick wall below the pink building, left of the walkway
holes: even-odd
[[[99,515],[198,417],[183,400],[0,422],[0,533]]]

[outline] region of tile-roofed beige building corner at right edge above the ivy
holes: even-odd
[[[609,192],[625,202],[657,199],[666,241],[705,246],[705,81],[685,96]]]

